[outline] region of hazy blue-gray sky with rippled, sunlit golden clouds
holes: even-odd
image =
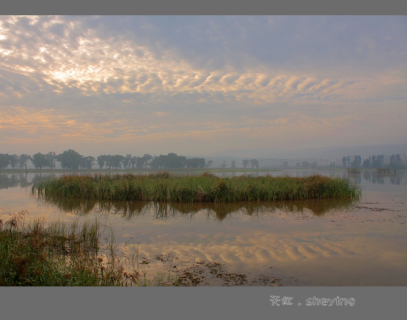
[[[407,142],[406,16],[0,16],[0,153]]]

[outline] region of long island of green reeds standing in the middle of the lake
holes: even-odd
[[[156,174],[64,175],[34,184],[32,194],[45,198],[227,202],[359,198],[361,188],[349,179],[317,174],[219,178],[208,172],[200,176],[176,177],[162,171]]]

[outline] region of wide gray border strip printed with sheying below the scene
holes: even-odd
[[[382,319],[403,314],[407,287],[127,287],[2,288],[2,315],[23,318],[302,318]],[[273,305],[270,296],[293,298]],[[307,306],[313,297],[355,304]],[[298,304],[301,303],[301,306]]]

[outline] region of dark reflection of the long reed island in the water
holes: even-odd
[[[311,199],[280,202],[154,202],[154,201],[98,201],[92,199],[73,199],[52,196],[36,196],[39,201],[55,206],[63,212],[86,215],[91,212],[100,214],[119,214],[123,218],[143,220],[171,221],[191,220],[197,213],[208,216],[210,220],[222,221],[238,215],[253,218],[274,215],[276,211],[302,214],[310,211],[316,216],[347,211],[354,201],[350,199]]]

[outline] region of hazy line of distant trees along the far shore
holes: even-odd
[[[0,154],[0,169],[26,168],[28,161],[36,169],[170,169],[170,168],[210,168],[213,161],[206,162],[204,158],[187,158],[186,156],[168,153],[167,155],[143,156],[122,155],[100,155],[96,159],[92,156],[83,156],[76,151],[69,149],[62,154],[49,152],[47,154],[36,153],[35,155],[9,155]],[[362,159],[360,155],[344,156],[336,161],[326,159],[244,159],[243,168],[265,168],[265,169],[317,169],[317,168],[381,168],[393,167],[395,169],[407,168],[407,157],[405,154],[393,154],[391,156],[372,155]],[[219,168],[237,168],[236,160],[227,163],[222,160]]]

